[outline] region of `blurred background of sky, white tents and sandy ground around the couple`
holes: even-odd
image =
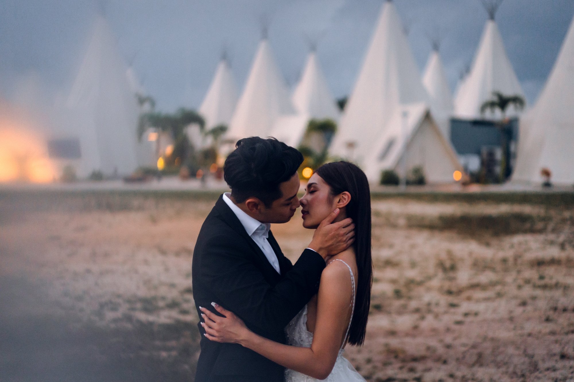
[[[369,381],[574,379],[571,0],[0,0],[0,379],[192,380],[243,137],[373,191]],[[295,261],[311,232],[273,227]]]

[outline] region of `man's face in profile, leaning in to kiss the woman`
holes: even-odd
[[[300,206],[297,192],[299,191],[299,177],[297,173],[286,182],[279,185],[281,197],[274,200],[269,208],[261,204],[257,220],[261,223],[287,223]]]

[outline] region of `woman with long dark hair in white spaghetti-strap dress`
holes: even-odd
[[[285,328],[288,345],[251,332],[239,317],[215,303],[224,317],[201,309],[204,335],[212,341],[241,344],[284,366],[289,382],[364,381],[342,353],[347,344],[363,344],[369,316],[373,283],[369,182],[352,163],[327,163],[309,179],[300,202],[303,227],[317,228],[339,208],[336,221],[351,217],[356,240],[346,251],[327,258],[319,292]]]

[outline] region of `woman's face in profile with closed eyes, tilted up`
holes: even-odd
[[[309,178],[305,195],[300,199],[303,227],[315,229],[336,208],[331,188],[323,178],[313,174]]]

